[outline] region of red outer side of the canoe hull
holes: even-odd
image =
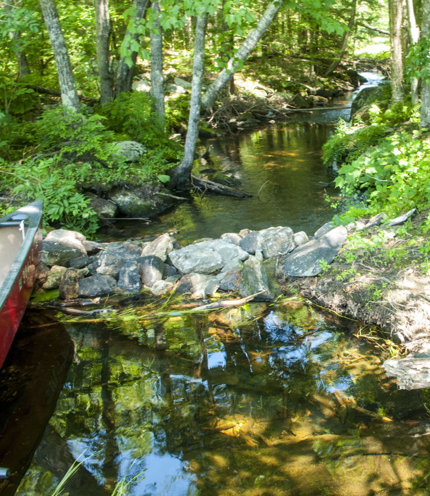
[[[32,235],[27,253],[21,253],[18,266],[14,263],[16,277],[7,288],[8,294],[0,308],[0,367],[15,337],[37,277],[42,250],[42,229],[34,230]]]

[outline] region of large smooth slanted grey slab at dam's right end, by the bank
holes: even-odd
[[[347,236],[347,228],[341,225],[299,246],[285,257],[284,274],[289,277],[316,276],[322,270],[320,261],[331,264]]]

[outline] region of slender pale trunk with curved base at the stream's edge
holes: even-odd
[[[208,14],[197,17],[196,34],[194,36],[194,61],[193,81],[191,86],[190,115],[188,119],[188,132],[185,139],[184,158],[175,167],[174,175],[178,183],[183,183],[190,178],[194,162],[194,150],[199,137],[200,105],[202,101],[203,67],[205,64],[205,34]]]

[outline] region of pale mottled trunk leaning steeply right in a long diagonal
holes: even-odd
[[[223,69],[218,74],[215,81],[211,84],[202,100],[203,106],[207,111],[213,107],[219,91],[233,77],[234,72],[237,71],[239,62],[236,62],[236,60],[239,59],[240,61],[244,61],[252,50],[254,50],[254,47],[257,45],[266,29],[273,21],[279,9],[282,7],[282,3],[283,0],[275,0],[269,4],[264,14],[258,21],[257,27],[249,33],[239,50],[236,52],[235,56],[228,61],[227,68]]]

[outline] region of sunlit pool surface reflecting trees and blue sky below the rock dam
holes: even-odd
[[[94,454],[71,496],[135,476],[128,495],[409,495],[429,469],[428,392],[397,390],[377,350],[294,300],[69,331],[51,442]],[[44,458],[18,495],[55,487]]]

